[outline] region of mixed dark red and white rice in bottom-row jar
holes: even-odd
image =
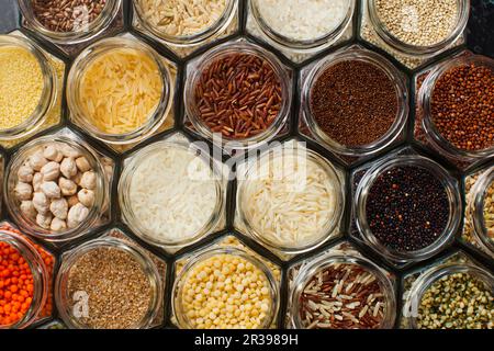
[[[312,287],[304,288],[299,305],[300,320],[305,328],[377,329],[384,319],[385,299],[381,286],[377,276],[363,267],[330,264],[312,276],[306,285]],[[348,286],[353,287],[351,293],[341,295],[339,291],[345,292]]]

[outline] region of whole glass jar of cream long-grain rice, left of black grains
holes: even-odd
[[[339,233],[344,180],[321,155],[283,147],[245,166],[237,172],[242,231],[283,257],[308,252]]]

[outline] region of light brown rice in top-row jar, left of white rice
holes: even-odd
[[[228,0],[136,0],[141,16],[159,33],[187,36],[201,33],[221,19]]]

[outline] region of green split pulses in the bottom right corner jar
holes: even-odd
[[[493,293],[471,274],[446,275],[422,297],[417,326],[420,329],[493,329]]]

